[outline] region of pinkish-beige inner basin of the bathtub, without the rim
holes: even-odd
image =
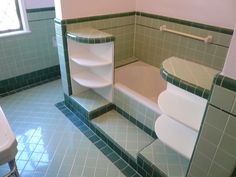
[[[137,61],[115,70],[115,83],[157,103],[158,95],[166,89],[159,68]]]

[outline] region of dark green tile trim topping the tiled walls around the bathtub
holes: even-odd
[[[67,19],[67,20],[55,19],[55,23],[72,24],[72,23],[78,23],[78,22],[102,20],[102,19],[108,19],[108,18],[132,16],[132,15],[165,20],[165,21],[169,21],[169,22],[174,22],[174,23],[178,23],[178,24],[182,24],[182,25],[192,26],[192,27],[196,27],[196,28],[220,32],[220,33],[229,34],[229,35],[233,34],[233,29],[221,28],[221,27],[206,25],[206,24],[202,24],[202,23],[195,23],[195,22],[191,22],[191,21],[187,21],[187,20],[181,20],[181,19],[177,19],[177,18],[166,17],[166,16],[150,14],[150,13],[145,13],[145,12],[138,12],[138,11],[137,12],[125,12],[125,13],[118,13],[118,14],[110,14],[110,15],[83,17],[83,18],[76,18],[76,19]]]

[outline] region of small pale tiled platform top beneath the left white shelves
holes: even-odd
[[[88,112],[99,109],[100,107],[109,104],[106,99],[104,99],[91,89],[81,92],[79,95],[73,95],[72,98],[76,100]]]

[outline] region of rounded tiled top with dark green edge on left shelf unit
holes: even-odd
[[[115,40],[115,37],[103,31],[93,28],[81,28],[76,31],[68,31],[67,37],[81,43],[98,44]]]

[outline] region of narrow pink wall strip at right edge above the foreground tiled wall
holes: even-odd
[[[222,74],[236,80],[236,25]]]

